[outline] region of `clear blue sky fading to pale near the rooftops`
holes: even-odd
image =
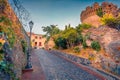
[[[65,25],[76,26],[80,23],[80,13],[94,2],[112,2],[120,7],[120,0],[19,0],[30,12],[35,23],[33,32],[44,34],[42,26],[52,24],[64,29]]]

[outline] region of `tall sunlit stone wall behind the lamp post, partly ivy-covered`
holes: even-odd
[[[9,64],[12,64],[12,66],[8,68],[8,71],[6,73],[9,73],[10,71],[9,73],[10,77],[15,75],[14,77],[20,79],[22,75],[22,69],[26,65],[26,53],[23,52],[21,41],[22,40],[26,41],[26,40],[21,30],[21,23],[19,22],[17,16],[12,10],[8,0],[0,0],[0,1],[4,1],[3,4],[5,4],[3,5],[4,8],[0,10],[0,20],[1,20],[0,33],[4,34],[3,40],[5,40],[5,42],[8,43],[7,47],[4,49],[3,58],[0,60],[0,62],[5,62],[6,65],[7,64],[6,62],[9,63],[11,60]],[[0,2],[0,6],[1,6],[1,2]],[[0,43],[2,42],[0,41]],[[3,43],[3,45],[5,44]],[[2,50],[2,48],[0,48],[0,50]],[[0,71],[0,76],[1,74],[3,74],[2,80],[11,80],[8,75],[1,72],[3,71]],[[8,78],[6,79],[6,77]]]

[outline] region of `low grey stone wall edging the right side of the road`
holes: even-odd
[[[108,79],[108,80],[120,80],[120,78],[117,77],[116,75],[113,75],[113,74],[110,74],[110,73],[105,72],[103,70],[99,70],[99,69],[91,67],[90,66],[91,62],[88,59],[77,57],[77,56],[74,56],[71,54],[66,54],[66,53],[63,53],[60,51],[56,51],[56,50],[51,50],[50,52],[52,52],[53,54],[59,55],[62,58],[67,58],[68,60],[74,62],[77,65],[82,64],[83,66],[88,67],[89,69],[94,70],[96,73],[99,73],[102,76],[106,77],[106,79]]]

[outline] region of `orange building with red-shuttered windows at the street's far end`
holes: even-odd
[[[30,33],[28,33],[28,36],[30,35]],[[45,43],[46,41],[46,38],[43,37],[43,35],[41,34],[34,34],[32,33],[31,34],[31,45],[32,45],[32,48],[35,48],[35,49],[39,49],[39,48],[45,48]]]

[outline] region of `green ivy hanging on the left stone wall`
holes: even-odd
[[[14,47],[16,41],[15,33],[11,26],[12,22],[8,18],[5,16],[0,17],[0,72],[9,76],[12,80],[18,80],[15,77],[14,65],[9,56],[10,48]]]

